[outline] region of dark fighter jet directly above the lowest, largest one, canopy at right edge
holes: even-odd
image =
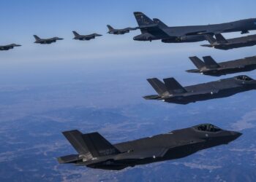
[[[216,82],[195,84],[182,87],[176,79],[164,79],[164,83],[159,79],[147,79],[158,95],[148,95],[147,100],[162,100],[167,103],[188,104],[200,100],[214,98],[225,98],[239,92],[246,92],[256,89],[256,80],[249,76],[240,75],[229,79],[219,79]]]

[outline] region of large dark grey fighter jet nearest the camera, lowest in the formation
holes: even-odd
[[[240,132],[222,130],[213,124],[199,124],[116,144],[111,144],[99,132],[82,134],[78,130],[71,130],[63,134],[78,154],[59,157],[60,164],[72,163],[102,170],[123,170],[135,165],[179,159],[230,143],[242,135]]]

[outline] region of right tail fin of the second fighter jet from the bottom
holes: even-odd
[[[177,93],[185,93],[187,90],[185,90],[184,87],[179,84],[176,79],[174,78],[167,78],[164,79],[165,82],[165,87],[167,88],[168,92],[172,94],[177,94]]]

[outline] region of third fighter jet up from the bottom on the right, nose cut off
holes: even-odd
[[[203,60],[200,60],[197,56],[189,57],[189,59],[197,67],[197,69],[187,70],[189,73],[222,76],[225,74],[235,74],[256,69],[256,56],[238,60],[229,60],[222,63],[216,63],[211,56],[205,56],[203,57]]]

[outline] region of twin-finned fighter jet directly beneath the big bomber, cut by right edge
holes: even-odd
[[[233,48],[240,48],[240,47],[249,47],[254,46],[256,44],[256,35],[251,36],[241,36],[238,38],[233,39],[225,39],[221,33],[215,35],[215,38],[211,35],[205,35],[206,40],[210,44],[203,44],[203,47],[214,47],[218,50],[230,50]]]

